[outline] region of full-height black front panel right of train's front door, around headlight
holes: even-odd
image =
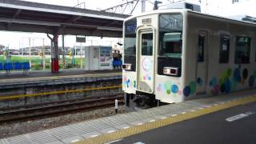
[[[181,77],[183,15],[159,14],[158,30],[158,74]],[[178,74],[164,74],[165,67],[174,67]]]

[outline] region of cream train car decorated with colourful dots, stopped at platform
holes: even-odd
[[[126,106],[152,106],[254,88],[256,25],[186,9],[124,22]]]

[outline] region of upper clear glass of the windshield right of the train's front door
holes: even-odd
[[[180,58],[182,56],[182,14],[160,14],[159,56]]]

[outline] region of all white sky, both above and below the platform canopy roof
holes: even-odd
[[[84,2],[81,5],[82,8],[90,10],[104,10],[106,8],[117,6],[118,4],[126,2],[126,0],[26,0],[29,2],[41,2],[52,5],[60,6],[76,6],[78,3]],[[130,1],[130,0],[129,0]],[[158,0],[162,1],[159,6],[160,9],[165,9],[166,5],[173,1],[178,0]],[[228,17],[232,15],[250,15],[256,18],[256,0],[238,0],[239,2],[232,4],[232,0],[201,0],[202,13],[214,14],[222,17]],[[153,9],[154,0],[146,1],[146,11]],[[189,0],[188,2],[198,3],[198,0]],[[132,7],[127,7],[126,14],[130,13]],[[134,10],[134,14],[141,13],[141,3],[138,3],[137,8]],[[121,38],[86,38],[87,42],[83,45],[114,45],[116,42],[121,42]],[[38,33],[21,33],[0,31],[0,45],[9,46],[10,49],[18,49],[19,47],[26,46],[42,46],[50,45],[49,38],[46,34]],[[65,36],[65,46],[80,45],[75,42],[75,36]],[[59,37],[59,46],[62,46],[61,37]]]

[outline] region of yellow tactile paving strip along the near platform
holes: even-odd
[[[112,142],[117,139],[126,138],[134,134],[139,134],[142,132],[145,132],[147,130],[153,130],[158,127],[167,126],[170,124],[174,124],[176,122],[182,122],[187,119],[191,118],[197,118],[199,116],[214,113],[218,110],[224,110],[233,106],[238,106],[250,102],[256,102],[256,96],[253,97],[245,97],[242,99],[234,100],[233,102],[226,102],[217,106],[211,106],[206,107],[202,110],[195,110],[193,112],[187,112],[186,114],[178,114],[177,116],[165,118],[165,119],[159,119],[154,122],[146,122],[145,124],[142,124],[140,126],[132,126],[128,129],[124,130],[118,130],[114,133],[110,134],[102,134],[95,138],[88,138],[84,141],[77,142],[78,144],[99,144],[99,143],[106,143],[106,142]]]

